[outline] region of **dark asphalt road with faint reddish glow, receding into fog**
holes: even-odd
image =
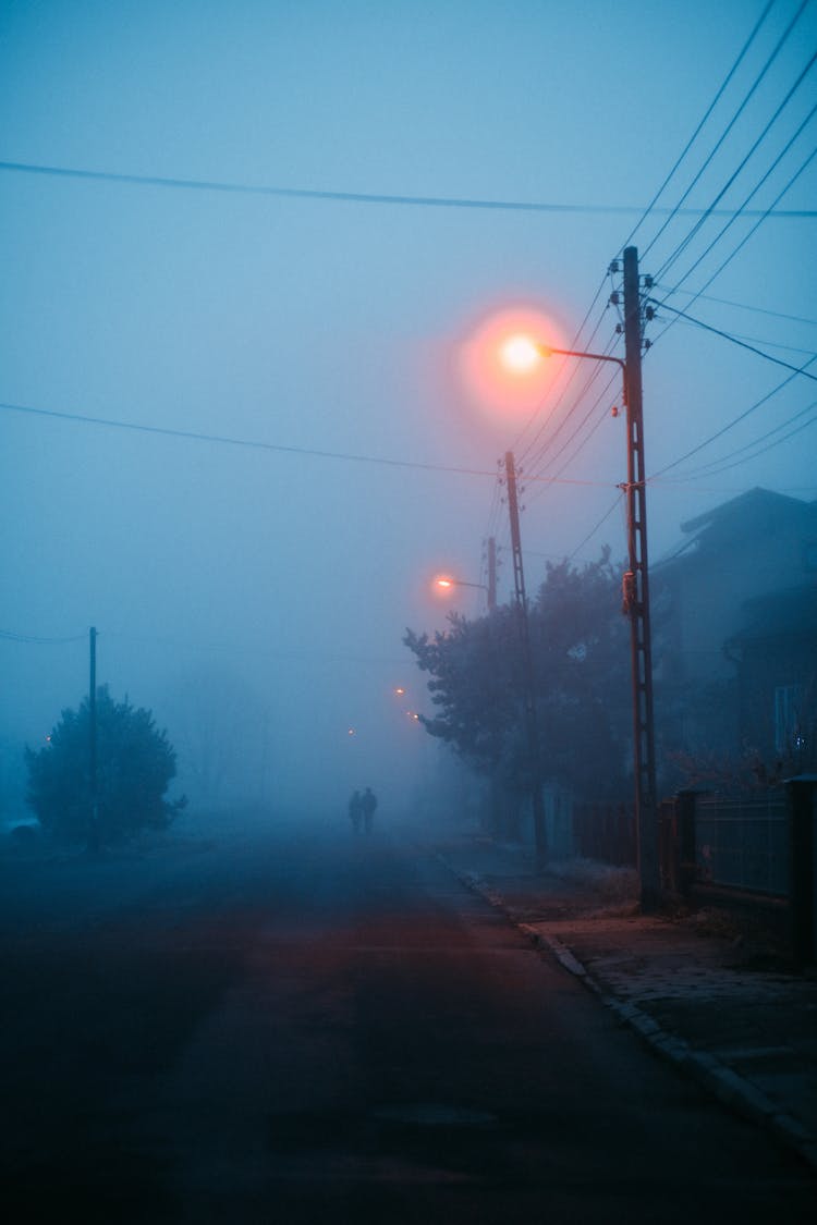
[[[0,864],[9,1221],[813,1220],[815,1182],[427,850]]]

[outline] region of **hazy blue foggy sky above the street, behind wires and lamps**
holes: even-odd
[[[443,627],[452,608],[484,611],[479,587],[445,603],[431,582],[446,571],[484,583],[489,535],[510,599],[497,459],[512,448],[525,467],[529,588],[550,557],[593,559],[604,544],[625,554],[615,391],[605,399],[597,379],[578,396],[588,370],[563,392],[560,368],[561,383],[486,397],[469,382],[468,345],[514,310],[548,320],[562,344],[612,343],[608,265],[762,7],[2,6],[7,807],[22,802],[22,746],[42,745],[87,691],[91,626],[99,681],[167,726],[194,811],[263,801],[323,820],[370,784],[382,815],[402,813],[418,786],[443,785],[437,746],[410,718],[430,698],[402,636]],[[794,12],[775,6],[661,206],[679,203]],[[709,207],[816,32],[812,7],[685,207]],[[719,207],[739,208],[773,163],[751,208],[770,207],[795,176],[813,126],[783,151],[808,115],[806,93],[807,82]],[[811,164],[779,208],[807,209],[816,186]],[[697,218],[666,219],[654,211],[632,238],[646,273]],[[726,219],[708,219],[668,287]],[[817,496],[813,428],[802,429],[812,383],[794,376],[750,412],[816,350],[804,271],[817,256],[813,217],[766,218],[708,287],[757,221],[740,218],[672,303],[685,310],[707,284],[690,312],[789,366],[668,326],[666,311],[649,326],[654,559],[682,521],[746,489]]]

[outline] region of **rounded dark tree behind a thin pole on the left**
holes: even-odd
[[[77,843],[91,831],[91,708],[62,710],[44,748],[26,750],[27,801],[40,824],[61,842]],[[142,829],[164,829],[185,806],[165,791],[176,757],[149,710],[115,702],[108,686],[97,692],[98,835],[122,842]]]

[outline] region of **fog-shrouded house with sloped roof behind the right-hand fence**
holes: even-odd
[[[687,755],[779,756],[817,666],[817,502],[753,489],[681,530],[650,573],[659,736]]]

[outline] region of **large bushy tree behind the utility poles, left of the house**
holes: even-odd
[[[609,550],[597,562],[549,565],[528,610],[539,752],[545,782],[578,796],[619,797],[631,757],[627,622]],[[479,773],[511,791],[529,788],[517,611],[450,617],[443,633],[407,631],[404,643],[439,708],[423,722]]]

